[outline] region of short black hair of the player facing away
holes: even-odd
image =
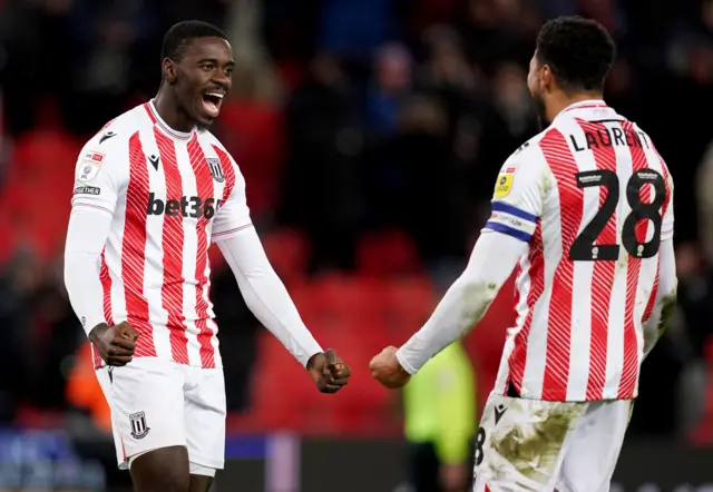
[[[563,90],[602,91],[616,46],[600,23],[578,16],[547,21],[537,36],[537,58]]]

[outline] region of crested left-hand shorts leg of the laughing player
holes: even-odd
[[[185,446],[184,374],[173,362],[140,357],[97,371],[109,406],[119,466],[137,454]]]

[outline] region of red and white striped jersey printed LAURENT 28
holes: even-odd
[[[505,163],[484,232],[529,247],[496,392],[636,397],[658,245],[673,237],[672,197],[648,135],[603,101],[568,107]]]

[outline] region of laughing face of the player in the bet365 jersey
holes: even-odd
[[[186,48],[176,66],[175,90],[183,110],[198,125],[208,126],[221,114],[234,65],[225,39],[197,38]]]

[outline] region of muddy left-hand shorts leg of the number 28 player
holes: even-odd
[[[478,492],[551,491],[566,437],[586,404],[491,394],[476,436]]]

